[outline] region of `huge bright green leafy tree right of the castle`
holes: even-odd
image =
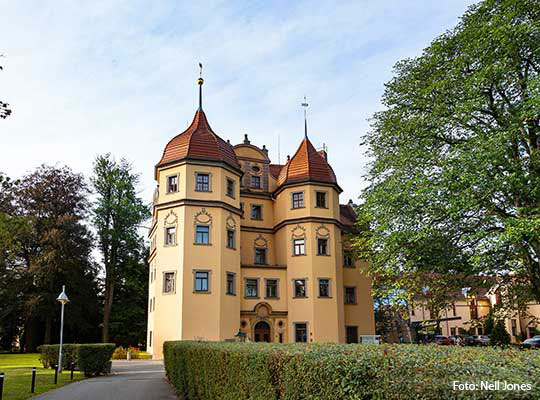
[[[512,273],[540,301],[538,0],[472,6],[397,63],[383,103],[356,242],[375,275]]]

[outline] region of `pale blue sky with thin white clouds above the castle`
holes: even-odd
[[[7,1],[0,0],[0,171],[38,165],[87,175],[97,154],[131,160],[150,201],[153,167],[191,122],[198,63],[213,130],[245,133],[272,162],[303,137],[326,143],[344,189],[365,186],[368,119],[384,83],[452,28],[473,1]]]

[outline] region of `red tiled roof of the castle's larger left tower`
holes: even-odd
[[[189,128],[167,143],[157,166],[186,158],[222,161],[240,169],[232,146],[212,131],[202,110],[195,113]]]

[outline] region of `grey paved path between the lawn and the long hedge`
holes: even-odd
[[[32,400],[177,400],[162,361],[113,361],[112,374],[51,390]]]

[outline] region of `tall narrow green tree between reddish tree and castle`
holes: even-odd
[[[133,273],[133,268],[144,268],[146,271],[144,263],[140,262],[144,242],[139,228],[148,219],[150,210],[138,196],[138,182],[139,176],[125,159],[117,162],[110,154],[97,157],[92,177],[97,194],[93,221],[105,270],[103,342],[108,342],[110,337],[115,290],[130,282],[129,275]],[[140,284],[144,285],[142,282]],[[146,298],[146,293],[144,296]]]

